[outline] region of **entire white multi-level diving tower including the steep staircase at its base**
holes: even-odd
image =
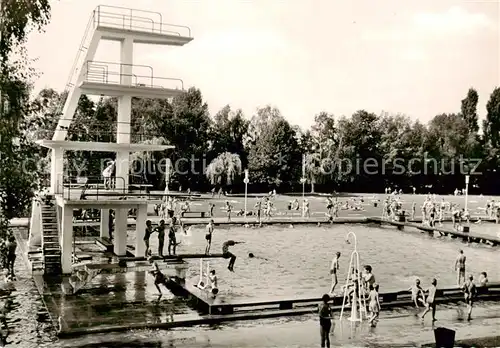
[[[109,40],[119,43],[119,59],[95,60],[100,44]],[[66,82],[64,93],[67,97],[58,106],[57,114],[61,116],[57,126],[48,129],[46,134],[36,134],[37,144],[51,152],[50,188],[47,192],[43,191],[46,199],[33,202],[29,251],[30,255],[42,254],[39,257],[41,260],[36,262],[44,269],[45,275],[72,274],[75,260],[74,210],[100,210],[100,239],[109,238],[113,229],[112,253],[119,257],[128,255],[127,219],[129,211],[135,211],[135,252],[144,254],[148,204],[156,203],[168,194],[152,195],[148,185],[134,185],[130,180],[133,164],[130,157],[132,153],[139,152],[167,152],[173,146],[166,144],[168,141],[147,144],[142,137],[132,141],[139,135],[134,133],[137,130],[132,127],[132,98],[169,99],[185,93],[185,88],[180,78],[158,76],[152,66],[134,64],[134,49],[137,49],[137,44],[179,47],[192,40],[189,27],[166,23],[158,12],[104,5],[97,6],[92,12]],[[68,139],[68,133],[74,131],[74,118],[82,95],[117,97],[116,130],[113,130],[116,136],[109,137],[112,142]],[[112,153],[106,168],[87,168],[86,163],[82,164],[85,172],[102,173],[104,190],[95,183],[79,185],[79,182],[74,183],[63,174],[67,169],[64,162],[67,151]],[[142,192],[143,188],[145,192]],[[98,271],[119,273],[143,270],[147,265],[140,262],[126,267],[96,266],[95,269],[87,265],[82,266],[82,272],[92,276]]]

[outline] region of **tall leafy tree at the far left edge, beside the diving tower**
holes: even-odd
[[[0,236],[24,213],[36,188],[38,149],[26,134],[32,70],[24,49],[32,28],[49,20],[48,0],[2,1],[0,7]],[[16,53],[16,54],[13,54]]]

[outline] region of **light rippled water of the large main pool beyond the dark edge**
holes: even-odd
[[[498,248],[430,237],[416,230],[398,231],[393,227],[367,225],[217,228],[212,253],[220,253],[226,240],[245,243],[230,249],[238,257],[235,272],[227,269],[227,260],[211,259],[210,265],[218,274],[221,295],[229,299],[319,297],[330,288],[329,268],[337,251],[342,253],[337,289],[343,285],[354,247],[352,239],[350,244],[345,241],[349,232],[357,236],[360,264],[372,266],[381,292],[406,289],[415,277],[420,278],[424,288],[430,285],[432,278],[438,280],[438,287],[453,286],[456,282],[454,262],[460,249],[467,257],[467,273],[478,276],[486,271],[490,281],[500,279]],[[203,253],[204,228],[193,227],[189,234],[180,236],[177,252]],[[129,243],[134,243],[133,233]],[[151,244],[152,250],[157,250],[155,235]],[[256,257],[249,258],[250,252]],[[189,276],[197,277],[199,261],[190,263]]]

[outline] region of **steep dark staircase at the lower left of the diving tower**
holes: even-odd
[[[42,253],[45,275],[61,275],[61,246],[54,197],[42,202]]]

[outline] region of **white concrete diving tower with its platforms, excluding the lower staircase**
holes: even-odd
[[[102,40],[120,42],[120,60],[117,62],[95,61],[99,43]],[[109,210],[115,211],[114,253],[126,255],[127,216],[129,209],[137,209],[136,251],[144,253],[142,233],[147,215],[147,200],[142,197],[127,197],[129,185],[130,153],[137,151],[165,151],[168,145],[131,143],[132,97],[172,98],[184,93],[184,83],[179,78],[159,77],[153,67],[134,65],[134,44],[183,46],[191,42],[189,27],[164,23],[161,13],[137,9],[98,6],[85,29],[77,56],[68,77],[65,91],[68,93],[61,105],[61,118],[52,139],[40,139],[40,146],[51,150],[50,194],[54,199],[54,213],[57,217],[59,244],[61,247],[62,273],[72,272],[73,209],[97,208],[101,210],[101,237],[108,237]],[[82,95],[113,96],[118,98],[116,143],[68,141],[68,130],[73,122],[78,101]],[[116,153],[114,190],[122,190],[123,197],[110,198],[101,195],[83,200],[79,195],[65,197],[68,185],[74,185],[74,178],[65,176],[64,151],[102,151]],[[101,169],[102,170],[102,169]],[[102,190],[101,190],[102,191]],[[45,208],[45,213],[50,213]],[[40,215],[39,213],[36,213]],[[43,220],[43,216],[42,219]],[[45,219],[47,220],[47,219]],[[35,231],[41,231],[39,226]],[[52,228],[55,231],[54,228]],[[55,234],[55,233],[54,233]],[[51,235],[51,238],[55,238]],[[51,240],[51,242],[53,242]]]

